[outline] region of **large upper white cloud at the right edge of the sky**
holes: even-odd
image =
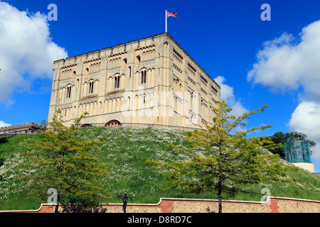
[[[299,40],[283,33],[267,41],[257,53],[257,63],[247,80],[287,91],[304,89],[304,98],[320,99],[320,21],[302,29]]]

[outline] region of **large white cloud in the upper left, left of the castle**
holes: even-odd
[[[18,11],[0,1],[0,102],[15,89],[28,91],[33,79],[53,77],[53,61],[68,57],[50,38],[46,15]]]

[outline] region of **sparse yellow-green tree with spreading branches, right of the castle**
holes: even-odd
[[[256,184],[265,180],[281,180],[286,176],[277,155],[262,153],[255,143],[257,138],[247,138],[252,131],[260,131],[271,126],[244,129],[245,121],[267,106],[250,111],[236,118],[229,116],[231,108],[224,101],[217,101],[217,116],[208,131],[186,132],[191,145],[205,148],[203,153],[194,153],[186,148],[170,145],[174,152],[183,153],[185,161],[163,162],[146,160],[154,168],[163,170],[169,179],[174,179],[169,189],[181,189],[181,193],[215,192],[218,194],[218,211],[222,212],[222,194],[235,196],[245,192],[243,185]]]

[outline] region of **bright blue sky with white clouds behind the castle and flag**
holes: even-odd
[[[58,21],[46,21],[49,4]],[[48,120],[53,60],[163,33],[166,9],[178,13],[169,34],[230,106],[269,106],[248,123],[273,128],[255,135],[306,133],[320,172],[320,1],[0,1],[0,126]]]

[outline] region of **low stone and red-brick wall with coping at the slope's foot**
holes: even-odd
[[[202,207],[200,205],[203,205]],[[308,206],[306,206],[306,204]],[[128,213],[204,213],[215,211],[218,199],[160,198],[156,204],[127,204]],[[41,204],[34,210],[11,210],[0,213],[52,213],[54,205]],[[111,213],[122,213],[122,203],[102,204]],[[201,209],[200,209],[201,208]],[[226,213],[314,213],[320,211],[320,201],[267,196],[266,201],[223,200]]]

